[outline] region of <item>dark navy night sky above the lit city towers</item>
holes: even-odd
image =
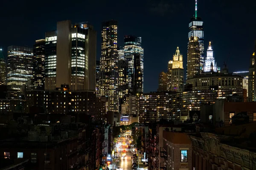
[[[5,0],[0,7],[0,46],[32,47],[56,29],[56,22],[89,21],[97,31],[97,59],[101,48],[101,22],[118,21],[118,46],[124,35],[142,37],[144,91],[156,91],[158,75],[177,45],[186,69],[188,24],[194,0]],[[212,42],[218,66],[227,62],[229,71],[246,71],[256,40],[256,0],[198,0],[198,17],[204,21],[205,52]]]

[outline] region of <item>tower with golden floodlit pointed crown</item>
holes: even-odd
[[[172,62],[172,91],[182,91],[183,89],[183,56],[177,47],[173,55]]]

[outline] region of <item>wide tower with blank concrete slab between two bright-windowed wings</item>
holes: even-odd
[[[88,23],[57,22],[46,33],[45,89],[68,85],[71,91],[96,89],[96,31]],[[65,68],[65,69],[64,69]]]

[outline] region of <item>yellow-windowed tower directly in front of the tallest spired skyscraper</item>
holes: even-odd
[[[198,37],[189,37],[186,79],[200,74],[200,55]]]

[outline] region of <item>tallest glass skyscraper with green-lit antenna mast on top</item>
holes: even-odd
[[[189,35],[188,39],[191,37],[198,37],[198,47],[200,51],[200,56],[196,60],[199,60],[199,69],[196,69],[196,74],[201,74],[203,72],[204,65],[204,22],[197,16],[197,0],[195,0],[195,15],[191,18],[189,22]],[[189,51],[189,41],[188,40],[188,51]],[[187,77],[188,78],[188,77]]]

